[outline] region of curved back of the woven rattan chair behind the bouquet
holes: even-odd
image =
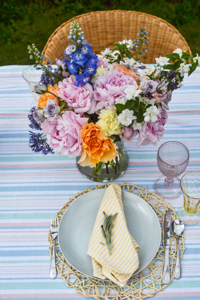
[[[71,44],[67,36],[72,20],[79,22],[85,38],[92,44],[96,54],[100,54],[106,47],[112,49],[113,43],[123,41],[124,38],[135,39],[139,27],[147,27],[150,37],[146,47],[148,52],[142,54],[143,63],[155,63],[155,57],[170,54],[176,48],[191,54],[184,37],[165,20],[137,11],[103,10],[73,17],[52,33],[42,52],[52,64],[55,63],[55,58],[64,57],[64,49]]]

